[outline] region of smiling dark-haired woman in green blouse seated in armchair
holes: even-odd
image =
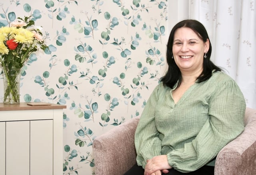
[[[218,152],[244,130],[245,100],[210,61],[196,20],[177,23],[167,43],[168,71],[153,90],[135,132],[137,164],[125,175],[213,175]]]

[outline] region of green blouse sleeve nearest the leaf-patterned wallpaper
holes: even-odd
[[[147,160],[161,155],[161,141],[155,126],[155,106],[158,101],[159,85],[151,93],[141,114],[135,132],[137,164],[145,168]]]

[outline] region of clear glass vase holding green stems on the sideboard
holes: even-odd
[[[4,69],[4,104],[20,104],[20,69]]]

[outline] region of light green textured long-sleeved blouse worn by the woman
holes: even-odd
[[[244,130],[240,88],[224,72],[214,72],[176,104],[174,89],[161,83],[147,101],[135,132],[137,164],[145,168],[147,159],[167,155],[169,165],[184,173],[214,165],[218,152]]]

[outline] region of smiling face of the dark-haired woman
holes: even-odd
[[[181,27],[175,31],[173,57],[181,72],[201,72],[208,49],[209,40],[204,43],[192,29]]]

